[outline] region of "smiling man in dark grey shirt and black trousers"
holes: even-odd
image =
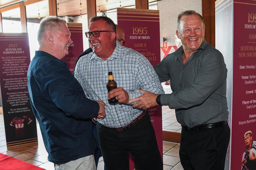
[[[133,107],[168,105],[182,126],[180,160],[184,169],[224,169],[230,138],[227,124],[227,69],[222,54],[204,40],[204,20],[195,11],[178,16],[182,46],[154,67],[161,82],[171,80],[171,94],[130,101]]]

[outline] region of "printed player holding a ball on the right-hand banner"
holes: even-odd
[[[241,160],[242,168],[241,170],[254,170],[256,169],[256,156],[251,154],[250,150],[256,150],[256,142],[253,141],[253,136],[251,131],[247,131],[244,134],[244,140],[246,144],[245,152],[243,154],[243,158]]]

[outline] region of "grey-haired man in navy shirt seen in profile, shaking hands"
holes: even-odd
[[[28,71],[28,92],[48,160],[57,170],[96,170],[91,118],[104,118],[105,104],[86,98],[79,82],[60,59],[72,43],[66,21],[49,16],[38,30],[39,51]]]

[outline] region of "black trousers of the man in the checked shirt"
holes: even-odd
[[[129,152],[140,170],[163,169],[148,113],[135,125],[120,132],[97,123],[97,134],[108,170],[129,170]]]

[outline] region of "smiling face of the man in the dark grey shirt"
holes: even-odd
[[[194,52],[204,41],[203,21],[196,14],[183,15],[180,18],[180,31],[176,31],[176,34],[184,51]]]

